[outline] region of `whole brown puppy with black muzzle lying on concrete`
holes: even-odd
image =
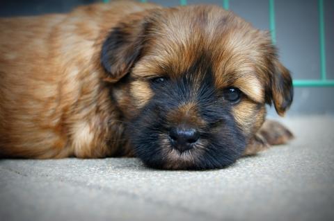
[[[221,168],[292,135],[267,33],[217,6],[116,2],[0,19],[2,157],[140,157]]]

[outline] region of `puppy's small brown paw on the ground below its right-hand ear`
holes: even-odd
[[[257,134],[260,134],[270,145],[285,144],[294,138],[287,127],[271,120],[264,121]]]

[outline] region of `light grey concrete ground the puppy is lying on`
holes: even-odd
[[[334,117],[285,119],[296,139],[230,168],[138,159],[0,160],[1,220],[333,220]]]

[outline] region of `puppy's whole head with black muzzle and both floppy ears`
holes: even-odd
[[[284,114],[292,80],[266,33],[214,6],[147,11],[113,28],[102,65],[134,150],[148,166],[221,168]]]

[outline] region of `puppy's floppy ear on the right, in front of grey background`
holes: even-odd
[[[271,100],[275,106],[276,112],[283,116],[289,109],[294,98],[294,87],[289,70],[286,69],[276,58],[272,62],[271,71]]]

